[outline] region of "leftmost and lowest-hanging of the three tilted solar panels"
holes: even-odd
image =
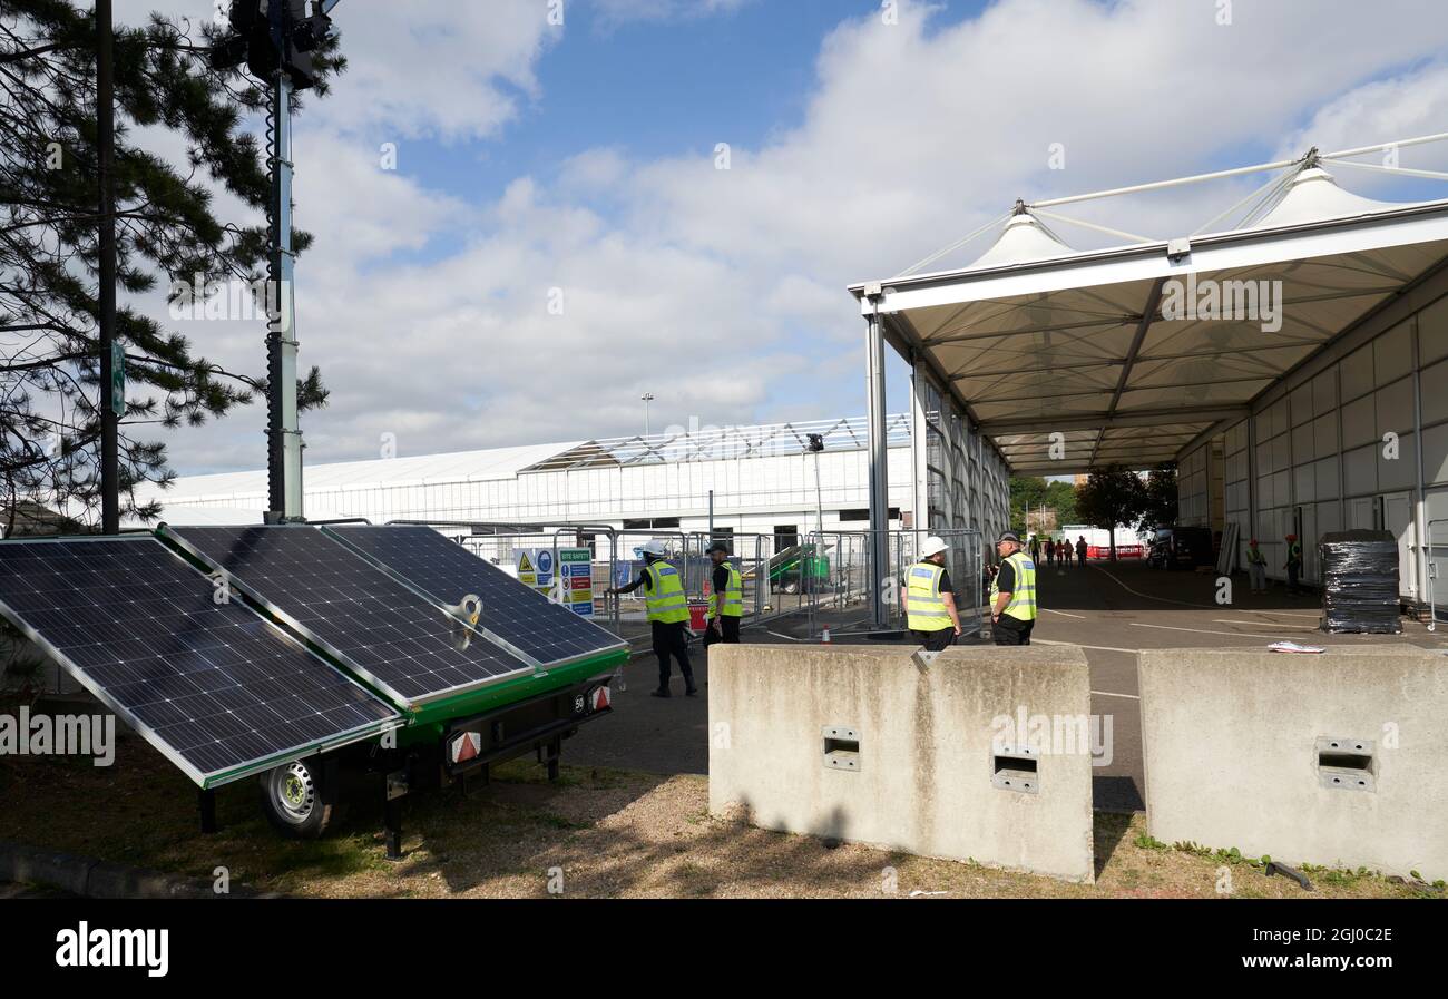
[[[151,536],[0,543],[0,612],[203,788],[397,711]]]

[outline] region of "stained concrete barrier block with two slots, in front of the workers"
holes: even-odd
[[[714,646],[708,691],[715,814],[1093,879],[1079,649]]]

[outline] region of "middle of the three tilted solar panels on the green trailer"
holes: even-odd
[[[534,669],[314,527],[162,531],[401,705]]]

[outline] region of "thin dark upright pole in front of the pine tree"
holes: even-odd
[[[100,184],[97,307],[100,311],[100,528],[120,533],[119,416],[116,398],[116,97],[111,0],[96,0],[96,175]]]

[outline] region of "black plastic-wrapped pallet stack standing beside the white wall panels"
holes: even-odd
[[[1389,531],[1338,531],[1318,543],[1322,627],[1397,634],[1397,539]]]

